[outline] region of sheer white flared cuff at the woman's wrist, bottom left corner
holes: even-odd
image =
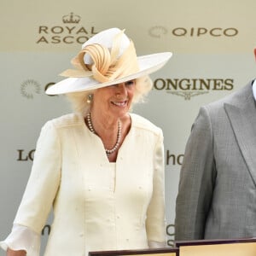
[[[0,241],[3,250],[11,248],[14,251],[25,250],[26,256],[39,256],[40,236],[19,224],[14,224],[9,236],[4,241]]]

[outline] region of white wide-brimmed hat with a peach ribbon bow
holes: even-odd
[[[172,57],[171,52],[137,56],[124,31],[110,28],[87,40],[71,61],[76,69],[67,69],[67,77],[50,86],[46,94],[57,95],[124,83],[154,73]]]

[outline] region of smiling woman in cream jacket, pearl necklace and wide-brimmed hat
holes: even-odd
[[[90,38],[69,78],[50,87],[74,112],[50,120],[38,138],[31,177],[9,237],[7,255],[39,255],[51,206],[55,218],[44,255],[165,245],[163,136],[129,113],[150,89],[148,73],[172,56],[137,57],[123,31]]]

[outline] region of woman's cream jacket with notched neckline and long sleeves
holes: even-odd
[[[131,114],[131,131],[109,163],[102,140],[67,114],[42,128],[15,224],[40,234],[53,206],[45,256],[146,248],[166,241],[164,195],[160,128]]]

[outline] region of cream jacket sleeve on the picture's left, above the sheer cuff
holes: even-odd
[[[38,138],[32,172],[15,224],[40,233],[48,218],[61,179],[61,143],[52,122],[44,125]]]

